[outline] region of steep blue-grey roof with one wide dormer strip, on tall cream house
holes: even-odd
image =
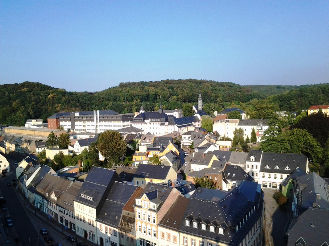
[[[92,166],[74,201],[97,209],[98,205],[102,205],[104,196],[107,197],[115,181],[121,180],[114,170]],[[81,197],[81,194],[92,197],[93,200]]]

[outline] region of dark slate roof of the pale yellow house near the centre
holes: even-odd
[[[134,177],[148,179],[166,179],[171,166],[139,164]]]

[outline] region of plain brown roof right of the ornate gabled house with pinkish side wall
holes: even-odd
[[[159,222],[160,226],[178,231],[184,216],[185,209],[190,199],[184,196],[177,197],[168,212],[165,213],[163,219]]]

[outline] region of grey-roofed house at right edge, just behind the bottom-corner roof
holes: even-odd
[[[308,208],[329,209],[329,187],[315,172],[297,177],[292,183],[293,202],[291,209],[294,218]]]

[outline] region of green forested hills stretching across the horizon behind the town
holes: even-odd
[[[251,103],[275,105],[281,111],[296,111],[311,105],[329,104],[329,84],[307,86],[240,86],[230,82],[206,80],[162,80],[128,82],[100,92],[68,92],[40,83],[0,85],[0,124],[22,126],[26,119],[46,119],[60,111],[114,110],[138,111],[141,103],[147,111],[157,104],[165,109],[195,105],[199,87],[207,112],[227,107],[245,110]]]

